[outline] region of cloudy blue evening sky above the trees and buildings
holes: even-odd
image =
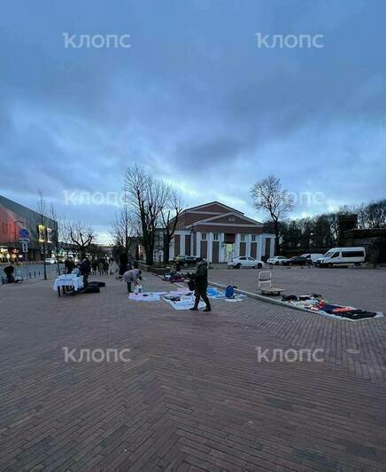
[[[270,174],[292,217],[386,198],[385,16],[384,0],[2,2],[0,193],[35,208],[41,191],[100,242],[135,163],[186,207],[259,221],[251,185]]]

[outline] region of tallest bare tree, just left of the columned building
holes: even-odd
[[[140,222],[146,264],[149,265],[154,262],[157,226],[169,201],[170,190],[170,185],[137,165],[125,173],[125,191]]]

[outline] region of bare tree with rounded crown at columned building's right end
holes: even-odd
[[[274,239],[277,254],[280,254],[280,222],[293,207],[293,199],[282,188],[280,178],[268,176],[251,188],[255,208],[265,210],[274,224]]]

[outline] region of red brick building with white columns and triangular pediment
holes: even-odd
[[[274,256],[274,234],[263,233],[263,224],[243,212],[211,201],[181,214],[170,258],[180,255],[202,256],[212,263],[237,256]]]

